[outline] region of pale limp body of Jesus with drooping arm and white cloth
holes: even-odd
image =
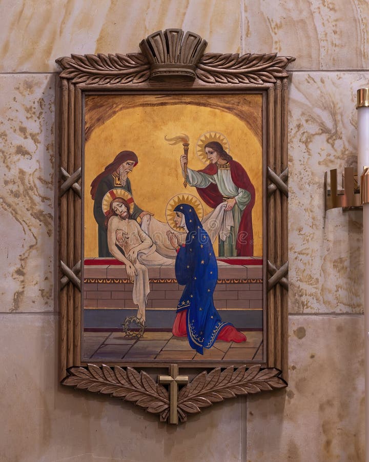
[[[151,238],[130,219],[130,206],[120,197],[110,203],[106,218],[109,252],[125,263],[128,278],[133,282],[132,299],[138,305],[137,318],[145,322],[145,309],[150,292],[147,266],[169,265],[173,260],[156,252]]]

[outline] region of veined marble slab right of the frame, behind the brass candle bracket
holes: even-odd
[[[290,312],[363,309],[362,211],[324,211],[324,172],[357,165],[361,72],[293,73],[289,91]],[[340,184],[340,180],[339,180]]]

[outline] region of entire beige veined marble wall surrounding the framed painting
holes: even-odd
[[[296,462],[364,458],[362,215],[323,208],[323,174],[356,164],[368,84],[365,0],[1,0],[3,223],[0,460]],[[133,26],[133,27],[132,27]],[[137,51],[193,30],[208,51],[292,55],[290,386],[229,400],[178,428],[57,383],[54,60]]]

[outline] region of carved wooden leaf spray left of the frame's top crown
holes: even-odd
[[[145,82],[150,65],[144,54],[72,54],[56,60],[63,69],[60,77],[74,84],[114,85]]]

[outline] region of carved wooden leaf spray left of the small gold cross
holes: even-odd
[[[85,368],[68,369],[69,376],[63,380],[64,385],[89,390],[96,393],[111,394],[134,402],[152,414],[165,412],[169,416],[168,390],[156,383],[147,373],[135,369],[124,370],[118,366],[111,369],[103,364],[101,368],[88,364]]]

